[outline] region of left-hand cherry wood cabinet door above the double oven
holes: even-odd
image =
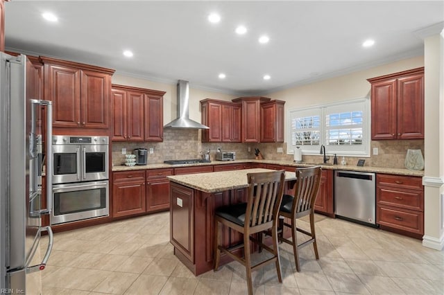
[[[45,64],[46,100],[53,102],[53,127],[80,127],[80,69]]]

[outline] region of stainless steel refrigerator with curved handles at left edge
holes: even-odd
[[[41,294],[41,271],[53,245],[51,227],[42,226],[42,216],[51,212],[52,106],[33,97],[35,75],[25,55],[0,53],[1,293]],[[44,231],[49,242],[40,253]]]

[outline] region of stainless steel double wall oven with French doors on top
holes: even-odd
[[[108,136],[53,136],[51,224],[109,215]]]

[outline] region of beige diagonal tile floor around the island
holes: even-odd
[[[255,294],[444,294],[444,251],[322,215],[316,234],[319,260],[305,247],[297,273],[291,247],[280,244],[283,283],[268,265],[253,273]],[[165,212],[56,233],[42,280],[44,295],[246,294],[244,273],[231,262],[191,274],[173,256]]]

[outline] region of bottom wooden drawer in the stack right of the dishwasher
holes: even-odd
[[[422,212],[378,205],[377,216],[381,226],[389,226],[418,235],[424,234],[424,213]]]

